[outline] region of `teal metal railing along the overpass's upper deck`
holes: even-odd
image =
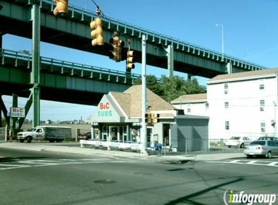
[[[23,0],[17,0],[17,3],[22,2]],[[24,0],[26,3],[26,0]],[[46,12],[53,11],[55,7],[55,3],[52,0],[28,0],[28,4],[38,4],[40,7]],[[92,21],[95,17],[98,17],[98,14],[93,11],[86,10],[84,8],[71,5],[68,6],[68,17],[78,21],[87,23]],[[135,26],[134,24],[118,20],[113,17],[104,16],[103,20],[103,28],[107,30],[117,30],[122,34],[128,35],[132,38],[141,39],[142,34],[146,35],[146,39],[148,43],[152,44],[162,44],[164,46],[172,45],[176,51],[186,52],[194,55],[198,55],[203,58],[209,58],[213,61],[220,61],[222,53],[218,51],[213,51],[211,49],[204,48],[202,46],[198,46],[184,40],[180,40],[165,34],[161,34],[146,28],[142,28],[139,26]],[[245,68],[248,70],[258,70],[258,69],[267,69],[267,67],[255,64],[249,61],[245,61],[240,58],[236,58],[227,54],[224,54],[223,63],[231,63],[235,67]]]

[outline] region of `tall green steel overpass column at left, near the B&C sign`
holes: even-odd
[[[33,127],[40,125],[40,7],[32,7],[32,73],[31,93],[33,96]]]

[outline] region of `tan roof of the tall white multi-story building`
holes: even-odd
[[[223,75],[217,75],[211,80],[207,82],[207,84],[213,83],[214,81],[222,81],[222,80],[228,80],[228,79],[237,79],[237,78],[246,78],[246,77],[252,77],[252,76],[262,76],[262,75],[268,75],[268,74],[276,74],[278,73],[278,68],[270,68],[270,69],[264,69],[264,70],[253,70],[253,71],[246,71],[246,72],[238,72],[238,73],[232,73],[232,74],[223,74]]]

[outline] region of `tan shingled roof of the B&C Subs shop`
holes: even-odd
[[[133,85],[123,93],[110,92],[128,117],[142,116],[142,87]],[[176,108],[147,89],[147,111],[170,111]],[[166,117],[166,116],[165,116]],[[169,117],[169,116],[168,116]]]

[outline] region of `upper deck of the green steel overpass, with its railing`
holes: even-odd
[[[141,62],[141,36],[147,36],[147,65],[173,70],[196,76],[212,78],[217,74],[266,69],[239,58],[203,48],[172,36],[147,30],[133,24],[104,16],[104,46],[92,47],[90,22],[98,15],[95,12],[69,5],[66,17],[55,17],[52,0],[0,0],[1,34],[15,34],[32,38],[31,7],[40,6],[40,40],[82,51],[108,56],[109,39],[113,32],[120,32],[120,39],[127,42],[131,38],[131,50],[137,51],[136,62]],[[127,45],[127,43],[126,43]],[[127,47],[127,46],[126,46]]]

